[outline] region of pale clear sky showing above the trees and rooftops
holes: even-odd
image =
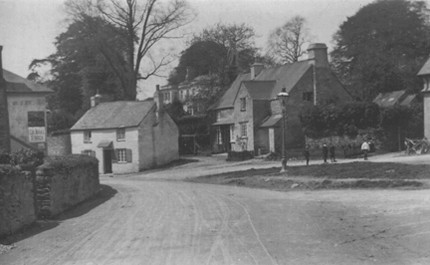
[[[143,1],[143,0],[142,0]],[[333,34],[361,7],[373,0],[188,0],[196,18],[185,29],[198,33],[215,23],[246,23],[256,32],[256,45],[263,49],[270,32],[295,15],[306,18],[314,42],[333,47]],[[3,67],[18,75],[29,74],[33,59],[55,52],[55,37],[67,29],[64,0],[0,0],[0,45]],[[187,38],[172,43],[172,52],[186,48]],[[158,47],[164,51],[165,47]],[[169,48],[170,50],[170,48]],[[168,75],[173,62],[162,74]],[[166,78],[151,78],[139,86],[139,98],[151,97],[155,85]]]

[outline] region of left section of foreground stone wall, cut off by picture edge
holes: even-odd
[[[32,174],[12,166],[0,166],[0,237],[35,220]]]

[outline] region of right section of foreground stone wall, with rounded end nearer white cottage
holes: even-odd
[[[95,195],[100,189],[97,159],[70,155],[36,170],[37,216],[55,216]]]

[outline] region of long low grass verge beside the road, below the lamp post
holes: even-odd
[[[246,186],[271,190],[427,188],[429,165],[353,162],[250,169],[188,179],[191,182]]]

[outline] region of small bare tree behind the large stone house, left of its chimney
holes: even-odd
[[[305,54],[304,44],[310,40],[306,19],[295,16],[269,36],[269,55],[281,63],[297,62]]]

